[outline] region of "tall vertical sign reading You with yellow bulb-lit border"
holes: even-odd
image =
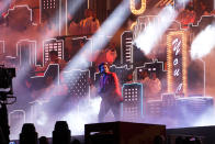
[[[186,95],[186,36],[184,31],[167,36],[168,92]]]

